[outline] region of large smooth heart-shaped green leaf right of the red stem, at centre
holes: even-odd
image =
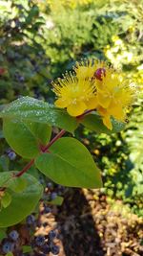
[[[54,182],[70,187],[99,188],[100,171],[91,153],[73,138],[61,138],[35,160],[36,167]]]

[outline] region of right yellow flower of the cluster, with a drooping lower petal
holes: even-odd
[[[112,69],[105,68],[102,80],[95,80],[97,111],[103,118],[104,125],[112,129],[111,117],[123,122],[129,105],[133,103],[134,88],[130,81]]]

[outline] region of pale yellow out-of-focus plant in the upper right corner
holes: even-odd
[[[104,52],[116,67],[121,67],[126,76],[143,84],[143,1],[112,1],[107,5],[109,13],[116,14],[119,34],[112,36],[112,44]]]

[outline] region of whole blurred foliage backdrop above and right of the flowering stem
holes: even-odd
[[[51,80],[81,58],[107,59],[142,91],[142,20],[143,0],[0,1],[0,103],[20,95],[52,102]],[[143,215],[142,113],[140,93],[123,132],[109,136],[81,128],[77,133],[103,170],[104,191],[123,199],[139,215]],[[9,159],[5,143],[0,150],[0,170],[23,165],[18,156]]]

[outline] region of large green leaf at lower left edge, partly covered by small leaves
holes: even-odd
[[[15,172],[0,173],[0,180],[7,180],[13,176]],[[11,196],[10,205],[0,212],[0,227],[7,227],[24,220],[34,210],[39,199],[42,197],[43,187],[38,180],[28,174],[23,175],[27,179],[27,187],[20,193],[9,190]],[[18,178],[18,177],[17,177]],[[10,181],[9,181],[10,182]],[[10,184],[10,183],[9,183]]]

